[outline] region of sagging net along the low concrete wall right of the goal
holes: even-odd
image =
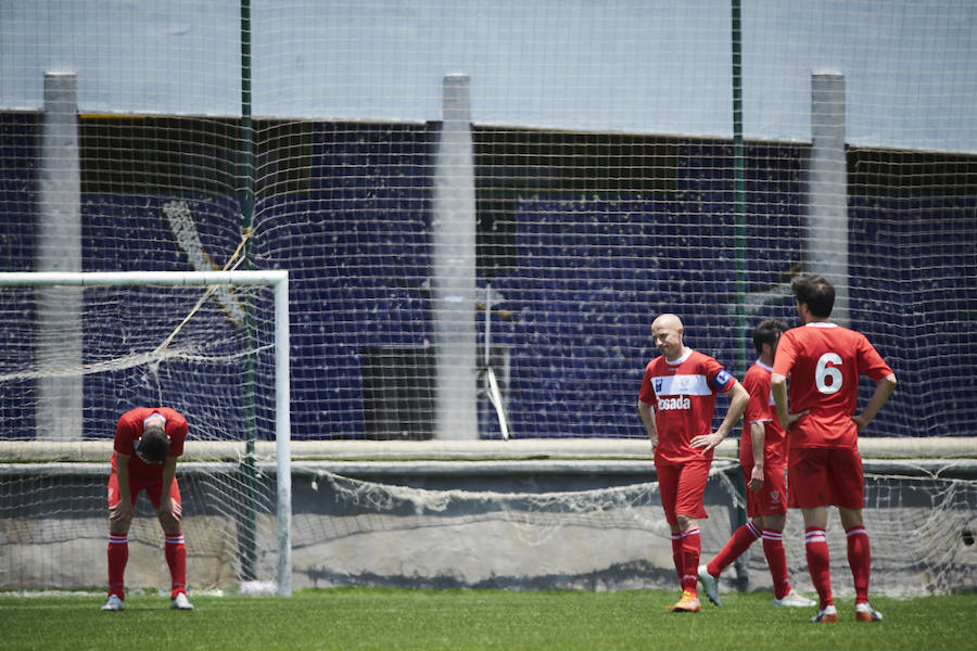
[[[972,462],[866,462],[872,590],[893,597],[977,587]],[[718,460],[699,522],[702,562],[743,507],[739,469]],[[671,533],[649,461],[307,463],[295,471],[295,582],[306,587],[621,590],[676,585]],[[312,505],[315,505],[313,507]],[[836,595],[851,597],[845,532],[827,527]],[[813,593],[803,522],[785,528],[790,580]],[[391,550],[396,550],[392,553]],[[771,590],[758,541],[724,590]]]

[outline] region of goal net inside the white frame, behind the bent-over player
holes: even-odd
[[[116,422],[167,406],[190,425],[177,477],[196,587],[291,590],[287,282],[284,271],[0,273],[11,463],[0,586],[104,584]],[[141,497],[131,587],[168,585],[148,551],[162,536]]]

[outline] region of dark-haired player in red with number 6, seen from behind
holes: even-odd
[[[789,426],[788,506],[803,512],[808,570],[821,600],[811,621],[838,621],[824,533],[827,507],[836,506],[848,538],[855,620],[877,622],[881,614],[868,603],[872,556],[862,519],[865,482],[858,434],[892,395],[896,374],[865,335],[828,320],[835,288],[827,280],[803,276],[795,279],[792,289],[802,326],[781,337],[771,386],[781,423]],[[876,385],[862,412],[855,414],[862,374]],[[792,424],[787,411],[788,376],[790,407],[808,411]]]

